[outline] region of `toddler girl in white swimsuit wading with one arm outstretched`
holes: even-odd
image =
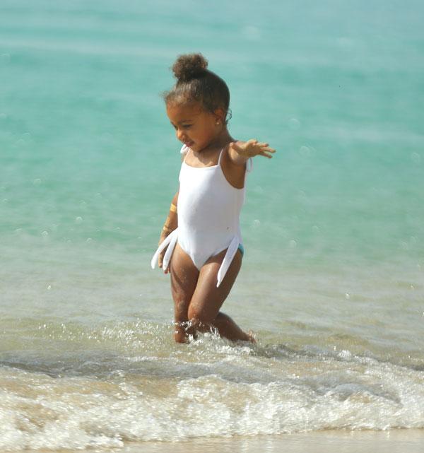
[[[170,272],[175,341],[211,329],[232,341],[254,341],[220,307],[242,264],[239,217],[247,160],[271,158],[275,150],[257,140],[232,139],[228,86],[207,66],[201,54],[182,55],[172,66],[177,83],[164,98],[183,143],[182,167],[152,267],[158,261]]]

